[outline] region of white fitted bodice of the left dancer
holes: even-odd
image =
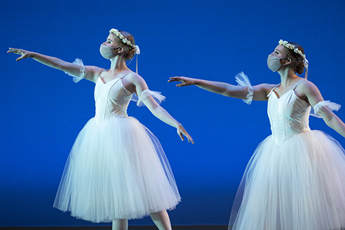
[[[112,79],[104,84],[99,77],[95,86],[96,123],[113,116],[128,117],[127,107],[132,97],[121,82],[121,78]]]

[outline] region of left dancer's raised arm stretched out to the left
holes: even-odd
[[[17,55],[21,55],[21,57],[17,58],[17,61],[31,57],[32,59],[39,61],[41,64],[44,64],[52,68],[56,68],[58,70],[62,70],[70,75],[73,75],[73,76],[81,75],[80,66],[78,64],[63,61],[56,57],[41,55],[38,52],[31,52],[28,50],[22,50],[22,49],[17,49],[17,48],[9,48],[7,52],[13,52]],[[99,73],[102,70],[103,70],[102,68],[98,68],[96,66],[85,66],[85,78],[92,82],[95,82],[97,80]]]

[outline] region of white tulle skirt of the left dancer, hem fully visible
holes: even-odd
[[[79,133],[54,207],[91,222],[142,218],[181,200],[157,138],[133,117],[92,118]]]

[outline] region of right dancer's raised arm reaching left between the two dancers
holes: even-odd
[[[248,86],[234,86],[224,82],[213,82],[202,79],[195,79],[190,77],[170,77],[168,82],[181,82],[177,84],[177,87],[195,85],[204,90],[208,90],[213,93],[218,93],[226,97],[234,97],[239,99],[247,99]],[[270,89],[274,85],[271,84],[260,84],[253,86],[254,100],[267,101],[267,95]]]

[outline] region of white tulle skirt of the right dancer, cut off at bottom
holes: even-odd
[[[344,149],[321,131],[277,146],[267,137],[251,157],[229,229],[331,230],[345,227]]]

